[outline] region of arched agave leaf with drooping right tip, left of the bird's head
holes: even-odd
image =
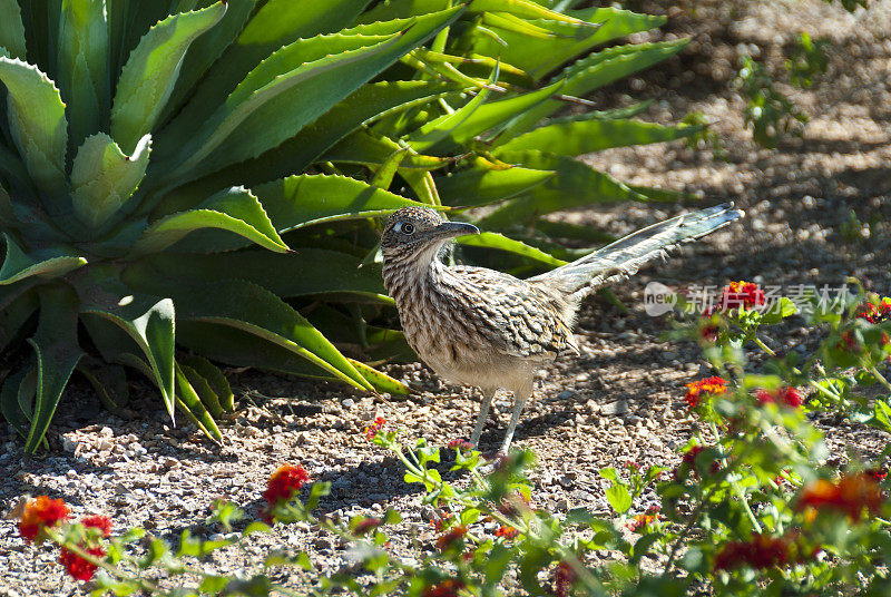
[[[202,228],[228,231],[276,253],[287,251],[256,196],[244,187],[232,187],[209,197],[196,209],[151,224],[133,246],[131,255],[160,252]]]

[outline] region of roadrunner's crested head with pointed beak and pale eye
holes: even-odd
[[[427,265],[452,238],[479,233],[472,224],[443,221],[433,209],[403,207],[386,221],[381,253],[384,263],[411,258],[419,265]]]

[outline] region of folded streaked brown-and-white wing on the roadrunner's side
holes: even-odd
[[[477,327],[499,352],[527,359],[578,352],[571,322],[564,321],[561,309],[539,285],[484,267],[448,272],[449,283],[459,285],[456,294],[477,314]]]

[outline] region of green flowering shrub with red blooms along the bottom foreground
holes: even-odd
[[[388,532],[401,521],[398,512],[351,520],[319,515],[329,483],[312,482],[302,467],[290,464],[271,476],[263,493],[266,505],[257,515],[265,522],[233,534],[246,515],[234,503],[217,502],[209,523],[226,530],[226,538],[204,540],[186,531],[176,551],[161,539],[143,537],[141,529],[115,536],[104,517],[71,523],[68,507],[47,497],[26,506],[19,531],[27,541],[57,544],[66,571],[91,580],[97,594],[293,594],[265,568],[229,577],[203,574],[195,565],[195,558],[200,561],[272,523],[292,522],[339,537],[368,572],[361,583],[355,574],[316,574],[301,594],[891,594],[891,502],[882,460],[891,444],[872,454],[874,461],[852,461],[840,470],[836,461],[826,461],[823,437],[811,423],[815,413],[830,411],[891,432],[885,376],[891,319],[882,306],[891,301],[864,293],[832,304],[815,298],[807,317],[824,336],[821,346],[811,354],[779,353],[765,336],[795,312],[794,305],[782,297],[762,302],[763,293],[750,283],[728,288],[726,294],[743,296],[742,303],[708,315],[719,330],[714,340],[702,336],[702,316],[682,315],[672,332],[698,342],[714,369],[714,375],[692,380],[678,395],[697,420],[689,442],[678,449],[678,464],[667,474],[669,463],[600,470],[609,516],[585,509],[555,516],[533,506],[526,477],[533,464],[530,452],[487,462],[456,440],[448,448],[454,452],[451,470],[460,473],[453,485],[440,472],[440,449],[423,439],[404,443],[398,440],[404,431],[386,429],[378,419],[365,433],[402,463],[407,482],[423,486],[423,502],[438,512],[431,529],[435,549],[412,560],[390,550]],[[766,359],[755,365],[746,350]],[[147,549],[137,557],[129,544],[140,538]],[[303,551],[276,550],[263,562],[312,569]],[[184,588],[187,583],[177,580],[170,588],[169,578],[186,571],[200,578],[197,584]]]

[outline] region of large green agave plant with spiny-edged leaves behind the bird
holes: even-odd
[[[368,364],[405,352],[375,253],[399,207],[542,267],[591,236],[541,214],[673,198],[571,156],[694,128],[555,115],[684,41],[594,51],[662,20],[551,4],[0,0],[0,405],[26,449],[75,371],[114,410],[135,369],[215,439],[213,362],[405,392]]]

